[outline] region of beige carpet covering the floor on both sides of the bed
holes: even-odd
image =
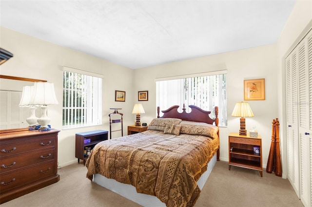
[[[140,207],[85,178],[87,169],[73,164],[59,169],[56,184],[21,196],[1,207]],[[303,207],[288,180],[217,162],[195,207]]]

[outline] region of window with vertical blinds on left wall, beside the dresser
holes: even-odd
[[[102,124],[102,78],[63,71],[63,129]]]

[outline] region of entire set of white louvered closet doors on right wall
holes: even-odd
[[[312,30],[286,57],[288,179],[312,205]]]

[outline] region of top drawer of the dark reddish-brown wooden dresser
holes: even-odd
[[[27,151],[42,150],[53,148],[55,146],[55,136],[47,136],[45,138],[24,139],[23,142],[11,142],[5,144],[1,142],[0,157],[11,156]]]

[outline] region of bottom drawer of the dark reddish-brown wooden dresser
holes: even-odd
[[[17,170],[0,177],[0,194],[8,190],[19,188],[25,185],[35,184],[43,178],[53,176],[56,173],[55,163],[47,163],[23,171]]]

